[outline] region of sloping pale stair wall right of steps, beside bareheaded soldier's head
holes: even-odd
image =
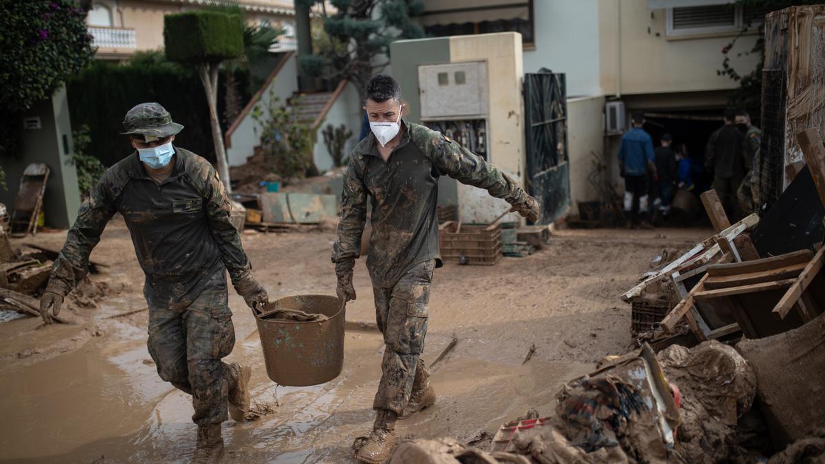
[[[316,139],[313,149],[313,159],[315,166],[319,171],[327,171],[333,168],[332,155],[329,154],[327,145],[323,143],[322,131],[328,124],[333,127],[339,125],[346,125],[347,129],[351,130],[352,135],[344,145],[344,156],[350,154],[352,149],[358,144],[358,135],[361,135],[361,120],[364,117],[363,102],[361,96],[358,95],[358,89],[355,85],[347,83],[341,94],[337,97],[335,102],[332,102],[332,107],[329,108],[327,116],[323,118],[321,124],[318,125]]]

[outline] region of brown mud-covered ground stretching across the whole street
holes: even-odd
[[[399,423],[403,437],[469,440],[535,407],[547,415],[559,387],[607,354],[631,347],[630,308],[619,295],[665,248],[687,249],[709,230],[562,230],[543,251],[494,267],[437,269],[425,359],[455,334],[435,367],[436,405]],[[17,239],[59,248],[65,233]],[[333,294],[335,235],[244,234],[271,297]],[[73,325],[25,318],[0,324],[0,459],[18,462],[186,461],[194,447],[191,400],[160,380],[146,350],[143,273],[122,220],[92,259],[109,286],[97,308],[64,310]],[[226,462],[349,462],[373,419],[383,343],[363,263],[347,307],[345,366],[335,381],[276,387],[266,377],[250,310],[230,291],[237,342],[229,361],[251,362],[262,417],[224,423]],[[530,347],[535,354],[522,365]]]

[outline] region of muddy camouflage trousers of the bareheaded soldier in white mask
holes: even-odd
[[[403,414],[413,391],[427,386],[427,366],[420,358],[427,335],[427,304],[430,302],[431,259],[404,273],[398,283],[376,286],[375,320],[384,334],[381,382],[372,407]]]

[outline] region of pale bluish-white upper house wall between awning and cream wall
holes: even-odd
[[[535,50],[524,51],[524,72],[567,74],[568,97],[601,94],[597,0],[536,0]]]

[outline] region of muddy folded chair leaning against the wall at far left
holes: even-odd
[[[37,217],[43,206],[43,194],[49,181],[49,167],[45,163],[26,166],[20,179],[20,188],[12,205],[10,229],[12,236],[37,233]]]

